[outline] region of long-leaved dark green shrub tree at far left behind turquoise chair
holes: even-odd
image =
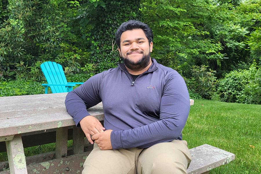
[[[74,9],[67,8],[77,1],[11,2],[6,8],[9,18],[0,24],[0,78],[40,80],[44,61],[57,61],[68,73],[79,72],[81,62],[86,63],[80,55],[87,55],[72,45],[76,39],[68,24]]]

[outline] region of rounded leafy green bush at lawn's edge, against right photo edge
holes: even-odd
[[[249,70],[234,70],[220,80],[221,101],[261,104],[261,69],[254,62]]]

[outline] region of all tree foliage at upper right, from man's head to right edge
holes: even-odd
[[[249,65],[253,58],[260,59],[260,55],[254,57],[252,53],[260,48],[249,50],[251,44],[256,46],[259,42],[260,4],[260,1],[145,0],[142,11],[155,34],[153,56],[186,77],[190,77],[192,65],[207,65],[217,71],[219,78],[241,61]]]

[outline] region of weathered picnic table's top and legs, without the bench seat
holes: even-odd
[[[28,173],[21,135],[56,129],[56,158],[67,156],[68,126],[73,127],[73,153],[83,153],[84,133],[66,112],[67,93],[0,97],[0,142],[6,142],[10,173]],[[103,120],[102,104],[89,113]],[[48,132],[48,131],[47,131]]]

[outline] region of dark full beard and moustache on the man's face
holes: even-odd
[[[143,68],[146,68],[146,66],[148,66],[148,64],[150,63],[151,52],[149,52],[147,55],[143,55],[142,58],[140,58],[137,62],[134,62],[133,60],[131,60],[127,57],[130,53],[132,53],[132,52],[127,53],[126,57],[121,56],[125,66],[127,68],[129,68],[131,70],[141,70]],[[140,53],[143,53],[143,51]]]

